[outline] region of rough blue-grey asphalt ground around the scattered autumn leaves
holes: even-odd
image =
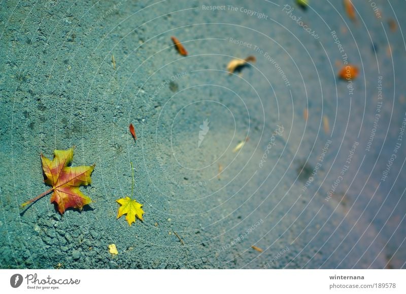
[[[2,1],[0,267],[404,268],[406,4],[355,3]],[[93,203],[21,209],[74,145]]]

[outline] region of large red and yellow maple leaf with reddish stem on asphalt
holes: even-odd
[[[22,206],[35,202],[41,197],[53,192],[51,203],[58,205],[58,211],[63,214],[69,207],[79,208],[92,202],[80,190],[80,186],[86,186],[91,183],[91,174],[93,165],[68,166],[73,159],[73,150],[75,146],[67,150],[54,150],[54,158],[51,161],[41,153],[42,169],[44,171],[44,182],[52,186],[51,189],[41,195],[28,200]]]

